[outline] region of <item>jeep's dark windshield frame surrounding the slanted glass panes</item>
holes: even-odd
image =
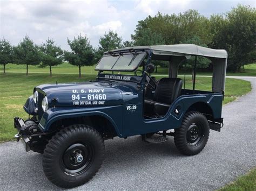
[[[131,54],[134,56],[134,58],[132,58],[132,60],[130,61],[129,65],[131,65],[132,61],[136,58],[136,56],[138,54],[142,54],[145,53],[145,55],[143,56],[143,58],[138,62],[138,65],[136,67],[134,67],[133,69],[114,69],[113,67],[116,65],[116,63],[118,62],[120,56],[122,56],[123,54]],[[113,63],[112,67],[110,69],[96,69],[96,67],[98,66],[99,62],[104,58],[104,56],[119,56],[119,58],[116,60],[116,62]],[[103,71],[112,71],[112,72],[134,72],[136,69],[138,69],[138,67],[142,64],[143,60],[146,58],[146,56],[149,55],[149,53],[145,50],[139,50],[139,51],[134,51],[133,49],[129,50],[129,51],[118,51],[118,52],[108,52],[105,53],[102,58],[100,58],[100,60],[98,61],[97,65],[95,66],[95,70],[98,70],[99,72],[103,72]],[[129,66],[127,65],[127,66]],[[112,69],[113,68],[113,69]]]

